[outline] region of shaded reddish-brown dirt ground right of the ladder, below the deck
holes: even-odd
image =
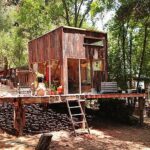
[[[143,126],[131,125],[103,118],[97,111],[90,109],[87,111],[87,119],[91,128],[103,131],[108,136],[150,147],[150,118],[147,118],[147,123],[144,123]]]

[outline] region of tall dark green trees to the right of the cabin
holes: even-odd
[[[150,30],[149,1],[119,1],[115,17],[109,22],[109,74],[120,87],[142,75],[149,77],[149,46],[145,27]],[[144,45],[144,40],[145,45]],[[130,88],[132,86],[130,85]]]

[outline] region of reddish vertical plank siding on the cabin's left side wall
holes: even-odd
[[[61,30],[54,30],[29,42],[29,62],[46,62],[62,57]]]

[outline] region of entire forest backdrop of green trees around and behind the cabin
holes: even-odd
[[[109,21],[107,16],[109,17]],[[0,0],[0,57],[9,67],[28,65],[28,41],[67,25],[108,33],[110,80],[132,88],[150,80],[149,0]]]

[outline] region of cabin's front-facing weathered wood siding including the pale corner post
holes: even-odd
[[[95,59],[95,53],[97,53],[97,59],[102,60],[104,64],[104,70],[101,72],[101,76],[104,76],[104,80],[107,79],[107,34],[94,31],[78,30],[72,28],[63,28],[62,36],[62,48],[63,48],[63,77],[64,77],[64,93],[68,93],[68,58],[74,59]],[[89,37],[89,45],[85,43],[86,38]],[[91,39],[91,41],[90,41]],[[96,41],[102,41],[103,46],[92,46],[90,43]],[[103,77],[101,77],[103,78]]]

